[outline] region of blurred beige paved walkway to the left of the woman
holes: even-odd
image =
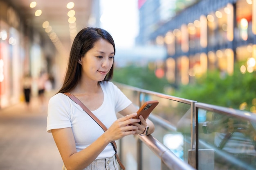
[[[48,101],[47,101],[48,103]],[[61,170],[61,156],[46,132],[47,108],[37,98],[0,109],[0,170]]]

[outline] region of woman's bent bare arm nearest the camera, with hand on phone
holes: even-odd
[[[96,139],[90,146],[81,150],[80,152],[76,152],[76,148],[74,142],[71,144],[61,145],[61,155],[65,155],[65,159],[63,159],[65,165],[68,167],[68,170],[81,170],[86,168],[87,166],[94,161],[97,156],[106,148],[106,146],[115,140],[121,139],[124,136],[135,134],[135,130],[138,129],[137,126],[129,125],[138,123],[139,120],[132,119],[136,113],[130,114],[123,118],[116,120],[107,131],[105,131],[98,139]],[[71,133],[71,132],[70,132]],[[71,135],[67,135],[71,136]],[[58,140],[61,142],[63,140]],[[70,146],[70,148],[66,148],[65,146]],[[66,151],[68,150],[68,151]],[[69,152],[71,154],[65,153]]]

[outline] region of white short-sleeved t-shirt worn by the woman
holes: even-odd
[[[92,111],[103,124],[109,128],[115,120],[116,113],[128,107],[132,102],[112,82],[100,83],[104,94],[102,105]],[[71,127],[79,152],[88,147],[100,135],[103,129],[83,109],[65,94],[59,93],[49,100],[47,116],[47,132],[51,129]],[[115,155],[113,146],[109,143],[97,159]]]

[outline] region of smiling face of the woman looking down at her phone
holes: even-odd
[[[114,61],[114,47],[105,39],[99,39],[79,63],[82,65],[82,78],[103,81]]]

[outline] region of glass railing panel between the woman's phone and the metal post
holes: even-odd
[[[119,88],[138,107],[149,100],[159,101],[157,107],[150,113],[150,116],[156,116],[159,121],[155,122],[149,117],[155,124],[155,132],[152,135],[187,163],[188,150],[191,149],[191,105],[162,96],[140,93],[128,88]],[[167,126],[164,126],[163,122]],[[126,147],[126,144],[123,144],[123,147]]]

